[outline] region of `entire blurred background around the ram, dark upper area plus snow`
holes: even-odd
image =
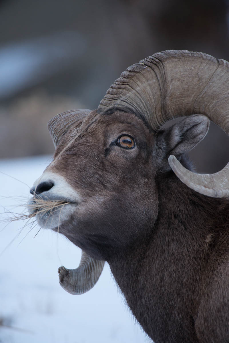
[[[57,270],[76,268],[80,250],[49,230],[8,223],[51,161],[48,120],[97,108],[128,66],[168,49],[229,61],[229,0],[0,0],[0,342],[149,342],[108,266],[74,297]],[[229,161],[229,139],[212,124],[190,155],[197,171],[214,173]]]

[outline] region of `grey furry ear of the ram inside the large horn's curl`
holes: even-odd
[[[192,150],[206,136],[209,119],[206,116],[187,117],[165,131],[167,153],[179,156]]]

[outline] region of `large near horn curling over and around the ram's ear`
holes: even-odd
[[[134,113],[154,132],[168,120],[203,114],[229,134],[229,63],[201,52],[168,50],[126,69],[99,110]],[[187,186],[206,196],[229,196],[229,163],[218,173],[195,174],[175,156],[169,164]]]

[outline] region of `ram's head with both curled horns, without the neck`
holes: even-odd
[[[123,72],[97,110],[51,119],[56,152],[31,189],[29,208],[41,226],[83,250],[79,268],[59,269],[68,292],[88,291],[114,249],[152,230],[159,173],[172,168],[199,193],[229,195],[228,165],[215,175],[200,175],[186,169],[183,159],[207,133],[208,118],[229,132],[228,79],[224,60],[186,50],[160,52]],[[160,130],[182,116],[188,118]],[[53,205],[45,209],[42,202]]]

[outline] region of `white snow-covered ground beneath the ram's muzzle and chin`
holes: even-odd
[[[29,198],[50,156],[0,161],[0,212]],[[12,197],[12,198],[11,198]],[[15,197],[17,200],[15,200]],[[22,198],[20,198],[22,197]],[[58,267],[76,268],[81,251],[66,238],[26,222],[0,222],[0,342],[148,343],[106,265],[91,291],[74,296],[59,285]]]

